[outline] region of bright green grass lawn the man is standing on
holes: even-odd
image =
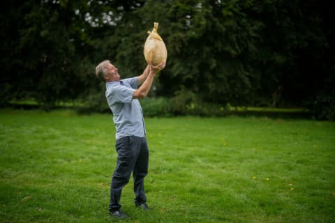
[[[0,222],[335,222],[335,123],[146,118],[149,212],[107,213],[111,114],[0,110]]]

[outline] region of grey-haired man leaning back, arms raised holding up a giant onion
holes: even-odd
[[[121,79],[118,69],[103,61],[96,66],[96,75],[106,82],[105,95],[113,113],[116,128],[117,167],[110,185],[109,213],[114,217],[125,218],[119,203],[121,191],[129,182],[131,171],[134,178],[135,206],[149,210],[144,192],[144,177],[148,173],[149,149],[145,137],[145,125],[142,108],[138,98],[145,98],[149,93],[156,73],[165,68],[165,63],[158,66],[148,64],[142,75]],[[141,85],[142,84],[142,85]],[[137,89],[137,86],[140,88]]]

